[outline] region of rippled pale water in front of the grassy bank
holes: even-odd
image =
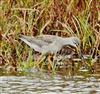
[[[37,74],[37,73],[36,73]],[[99,76],[1,76],[0,94],[95,94],[100,93]]]

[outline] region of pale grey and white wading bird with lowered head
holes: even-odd
[[[62,38],[54,35],[39,35],[30,37],[21,35],[20,39],[29,45],[32,49],[42,54],[57,54],[65,45],[78,48],[80,40],[78,37]]]

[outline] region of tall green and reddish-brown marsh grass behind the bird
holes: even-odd
[[[99,0],[1,0],[0,68],[17,71],[34,67],[38,62],[43,69],[45,58],[33,60],[32,49],[19,40],[20,34],[78,36],[82,53],[91,56],[86,66],[95,66],[91,62],[100,55],[99,3]]]

